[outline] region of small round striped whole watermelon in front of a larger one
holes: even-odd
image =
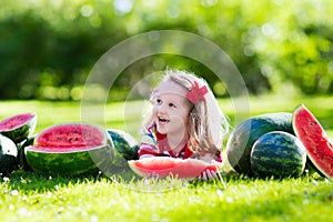
[[[256,140],[250,162],[253,172],[261,178],[300,176],[305,168],[306,152],[296,137],[273,131]]]

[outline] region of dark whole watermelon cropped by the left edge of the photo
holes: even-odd
[[[0,173],[8,175],[17,168],[18,149],[12,140],[0,134]]]

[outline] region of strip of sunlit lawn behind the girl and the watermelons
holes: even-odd
[[[230,99],[219,100],[219,102],[221,109],[230,119],[231,129],[248,117],[269,112],[293,112],[297,105],[304,103],[315,114],[327,134],[331,135],[333,132],[333,97],[251,97],[241,100],[245,103],[244,105],[240,105],[238,100]],[[89,121],[102,124],[105,128],[122,129],[139,138],[141,120],[148,108],[145,101],[98,103],[92,107],[92,111],[97,110],[104,113],[101,115],[92,112],[89,114]],[[37,112],[36,132],[40,132],[52,124],[82,120],[81,115],[87,115],[87,109],[81,108],[80,102],[1,101],[0,119],[22,112]],[[239,108],[244,110],[235,110]],[[239,119],[235,120],[235,115]]]

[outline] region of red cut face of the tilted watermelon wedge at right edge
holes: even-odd
[[[312,163],[325,176],[333,178],[333,145],[320,122],[303,104],[294,111],[293,128]]]

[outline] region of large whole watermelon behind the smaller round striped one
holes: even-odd
[[[226,155],[236,172],[253,175],[250,163],[252,145],[261,135],[271,131],[285,131],[293,134],[292,113],[255,115],[234,128],[226,142]]]

